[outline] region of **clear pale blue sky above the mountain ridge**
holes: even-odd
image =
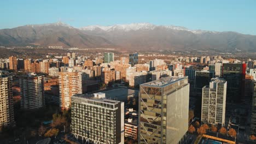
[[[62,21],[73,27],[149,22],[256,35],[256,1],[1,0],[0,29]]]

